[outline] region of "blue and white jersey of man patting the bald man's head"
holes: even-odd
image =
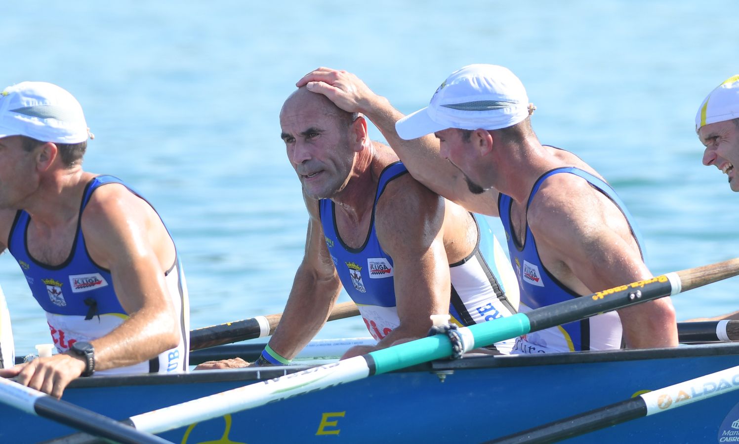
[[[616,191],[601,178],[593,176],[579,168],[556,168],[539,177],[531,190],[531,195],[529,195],[528,203],[526,204],[527,212],[528,205],[531,204],[531,200],[537,194],[542,182],[549,176],[563,173],[584,178],[590,186],[610,198],[613,204],[619,207],[624,214],[631,228],[632,235],[641,250],[641,242],[639,241],[632,218],[619,196],[616,195]],[[573,196],[573,198],[576,197]],[[505,237],[508,239],[508,252],[511,256],[511,263],[516,270],[521,288],[520,311],[525,313],[534,308],[545,307],[546,305],[579,297],[579,294],[565,287],[565,285],[556,280],[547,268],[543,266],[539,259],[539,252],[537,251],[537,242],[534,239],[534,235],[531,234],[531,229],[528,228],[528,223],[525,225],[526,233],[523,245],[518,245],[513,235],[511,203],[512,199],[510,196],[503,193],[500,194],[500,198],[498,199],[500,220],[503,222]],[[517,339],[513,353],[551,353],[575,350],[615,349],[621,347],[621,333],[622,328],[619,315],[615,311],[611,311],[593,316],[589,319],[583,319],[582,321],[570,322],[546,330],[528,333]]]

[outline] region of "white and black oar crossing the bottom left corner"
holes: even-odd
[[[153,434],[134,429],[125,423],[119,423],[67,401],[52,398],[5,378],[0,378],[0,402],[118,443],[169,443]],[[12,424],[7,426],[12,427]]]

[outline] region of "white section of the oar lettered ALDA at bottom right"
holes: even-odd
[[[644,393],[641,398],[647,405],[648,416],[735,389],[739,389],[739,366]]]

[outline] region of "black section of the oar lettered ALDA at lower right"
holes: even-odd
[[[534,429],[486,441],[486,443],[555,443],[643,416],[647,416],[647,405],[644,400],[641,397],[630,398],[610,406],[534,427]]]

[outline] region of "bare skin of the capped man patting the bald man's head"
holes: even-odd
[[[367,116],[414,178],[469,211],[497,215],[499,192],[510,195],[514,199],[514,235],[521,237],[528,223],[544,266],[577,294],[652,277],[624,216],[584,179],[569,174],[547,178],[525,211],[531,187],[548,170],[574,166],[599,176],[572,153],[541,145],[529,119],[514,125],[514,139],[483,129],[472,131],[465,139],[461,131],[449,128],[403,140],[395,131],[395,122],[403,114],[354,74],[319,68],[296,85],[324,94],[344,111]],[[471,192],[469,182],[482,192]],[[669,297],[622,308],[618,313],[628,347],[678,344],[675,310]]]

